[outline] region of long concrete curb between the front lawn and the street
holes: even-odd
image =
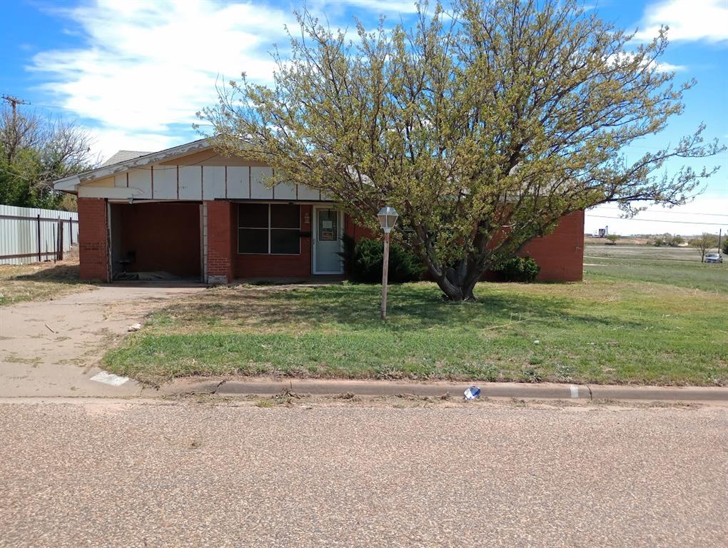
[[[525,384],[478,382],[355,381],[301,378],[197,378],[162,386],[163,394],[278,394],[292,390],[304,394],[333,395],[351,392],[360,396],[413,394],[462,397],[475,384],[483,397],[527,398],[536,400],[650,400],[669,402],[726,402],[728,388],[712,386],[620,386],[583,384]],[[159,394],[158,392],[158,394]]]

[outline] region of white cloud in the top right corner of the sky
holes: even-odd
[[[728,1],[663,0],[649,4],[644,11],[636,39],[649,41],[660,25],[668,25],[670,41],[728,40]]]

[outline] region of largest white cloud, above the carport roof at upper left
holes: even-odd
[[[215,102],[218,76],[245,71],[270,82],[268,52],[285,44],[284,25],[293,23],[290,12],[250,2],[98,0],[58,13],[80,26],[87,45],[40,52],[28,68],[47,74],[42,88],[66,111],[98,124],[105,156],[180,142],[170,125],[189,127]]]

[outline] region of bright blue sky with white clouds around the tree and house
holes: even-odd
[[[728,0],[599,0],[588,2],[606,20],[637,40],[670,25],[662,59],[678,81],[695,78],[683,116],[654,140],[627,151],[638,156],[674,143],[700,122],[706,138],[728,143]],[[241,71],[269,81],[272,44],[285,45],[299,1],[193,2],[116,0],[6,0],[0,34],[0,93],[15,95],[47,114],[90,128],[95,151],[106,158],[119,149],[153,151],[197,138],[194,113],[215,100],[215,80]],[[309,9],[333,26],[353,17],[392,24],[414,11],[409,0],[309,0]],[[692,162],[700,167],[706,162]],[[587,214],[587,230],[609,225],[620,234],[670,231],[694,234],[728,230],[728,153],[702,196],[685,207],[653,208],[636,220],[615,219],[605,206]],[[678,164],[668,165],[668,171]],[[698,224],[705,223],[705,224]]]

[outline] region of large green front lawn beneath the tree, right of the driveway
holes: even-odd
[[[443,301],[432,283],[395,285],[387,322],[376,285],[218,287],[152,314],[108,352],[106,368],[151,383],[280,373],[728,384],[725,286],[713,293],[713,282],[708,292],[688,287],[700,281],[604,269],[587,267],[575,284],[483,283],[475,303]]]

